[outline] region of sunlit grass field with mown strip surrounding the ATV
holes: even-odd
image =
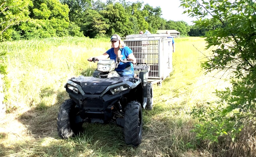
[[[8,52],[10,90],[8,114],[0,119],[0,156],[228,156],[229,148],[246,147],[232,147],[230,140],[229,148],[207,141],[199,146],[191,132],[196,123],[191,108],[216,100],[212,92],[228,85],[203,74],[200,62],[209,50],[199,37],[175,40],[174,70],[162,86],[154,85],[154,107],[143,111],[143,140],[137,148],[126,145],[122,129],[112,124],[86,123],[80,136],[60,139],[56,117],[68,98],[65,83],[72,76],[89,76],[96,64],[88,57],[110,46],[109,39],[73,37],[1,43],[0,50]]]

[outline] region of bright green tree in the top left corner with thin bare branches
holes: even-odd
[[[10,40],[13,26],[29,19],[30,0],[0,0],[0,41]]]

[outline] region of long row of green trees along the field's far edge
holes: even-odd
[[[202,36],[196,26],[167,21],[161,8],[125,0],[0,0],[0,41],[138,34],[140,30],[177,30],[183,36]]]

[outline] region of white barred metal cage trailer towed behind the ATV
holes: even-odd
[[[132,34],[122,38],[137,59],[150,66],[148,81],[161,85],[173,70],[172,39],[169,34]]]

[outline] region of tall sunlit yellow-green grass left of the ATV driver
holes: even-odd
[[[66,81],[72,76],[90,75],[95,65],[87,59],[105,52],[106,39],[48,38],[4,42],[7,78],[10,80],[7,107],[45,109],[58,100]],[[100,45],[100,47],[98,47]]]

